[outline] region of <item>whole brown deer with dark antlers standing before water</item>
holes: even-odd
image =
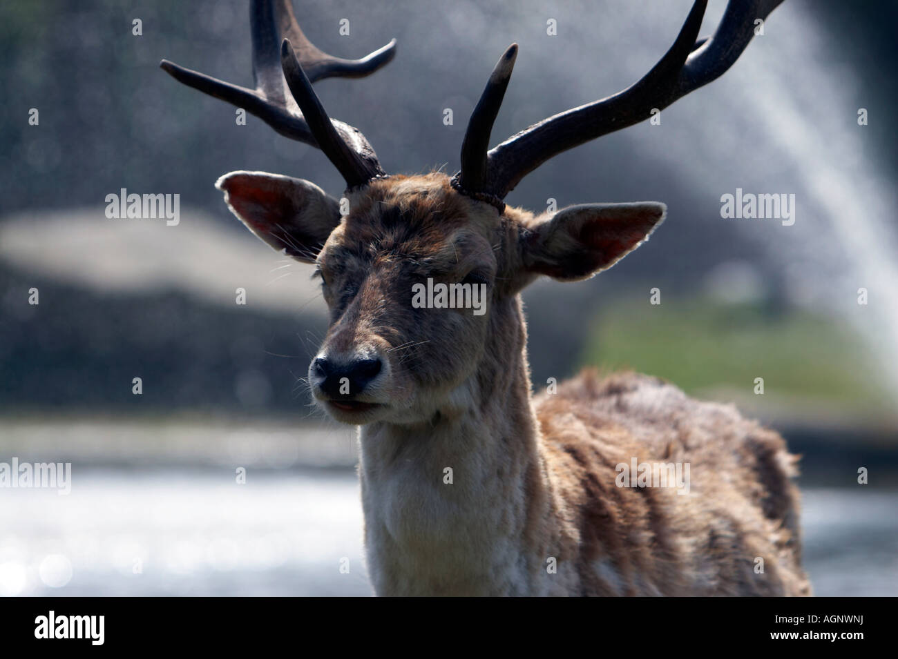
[[[489,148],[517,56],[499,58],[453,176],[390,174],[313,82],[362,77],[313,46],[289,0],[250,7],[255,88],[167,60],[179,82],[323,152],[339,198],[300,178],[233,171],[218,187],[270,247],[314,266],[329,328],[308,371],[313,401],[358,427],[366,564],[377,595],[808,595],[797,456],[729,403],[658,377],[586,369],[533,394],[521,290],[616,264],[665,220],[656,202],[537,214],[506,195],[560,152],[649,118],[717,79],[782,0],[729,0],[699,39],[696,0],[673,46],[638,82]],[[484,292],[484,313],[415,305],[426,281]],[[625,476],[686,465],[688,492]],[[657,471],[653,471],[655,475]],[[680,483],[682,485],[682,483]]]

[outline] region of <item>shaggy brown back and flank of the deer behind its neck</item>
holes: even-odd
[[[639,594],[646,582],[665,595],[810,594],[796,458],[779,434],[635,373],[585,371],[535,406],[550,480],[575,516],[569,551],[581,565],[610,558],[624,577],[621,592],[586,571],[584,594]],[[616,487],[615,464],[634,455],[689,462],[695,496]]]

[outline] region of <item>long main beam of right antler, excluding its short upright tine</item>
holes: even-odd
[[[560,152],[637,124],[652,108],[663,109],[723,74],[783,0],[729,0],[713,39],[697,41],[708,0],[696,0],[674,45],[638,82],[603,100],[569,109],[530,126],[487,154],[480,193],[499,199],[524,176]]]

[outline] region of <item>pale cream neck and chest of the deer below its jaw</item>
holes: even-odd
[[[520,300],[498,302],[480,367],[426,424],[360,431],[378,594],[524,592],[551,533]],[[535,551],[534,551],[535,550]],[[535,570],[535,572],[534,572]],[[514,574],[510,574],[513,572]]]

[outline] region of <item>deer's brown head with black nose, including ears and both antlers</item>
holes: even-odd
[[[673,47],[636,84],[489,149],[515,64],[513,44],[474,108],[462,168],[452,178],[387,176],[364,135],[330,119],[313,91],[312,82],[324,77],[374,72],[392,59],[395,41],[361,60],[327,55],[305,38],[289,0],[251,4],[255,90],[164,60],[162,66],[278,133],[320,148],[346,179],[343,214],[338,199],[299,178],[236,171],[216,186],[259,238],[316,265],[330,329],[309,369],[315,399],[338,421],[409,423],[470,396],[479,365],[496,359],[490,351],[497,336],[523,343],[516,296],[528,282],[601,272],[665,218],[665,205],[653,202],[585,204],[534,216],[506,207],[506,195],[559,152],[636,124],[652,108],[716,79],[752,39],[754,21],[781,1],[730,0],[714,37],[697,40],[707,0],[696,0]],[[486,313],[417,308],[414,287],[428,281],[455,284],[471,299],[485,294]]]

